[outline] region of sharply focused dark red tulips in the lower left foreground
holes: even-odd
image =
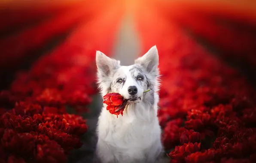
[[[0,115],[0,161],[65,162],[71,149],[81,147],[85,122],[65,109],[16,103]]]

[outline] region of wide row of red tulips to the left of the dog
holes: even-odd
[[[70,150],[81,147],[86,121],[67,114],[66,106],[84,110],[94,88],[91,73],[86,73],[92,71],[91,67],[73,60],[82,55],[71,53],[78,37],[78,33],[72,33],[53,53],[34,63],[30,71],[17,75],[9,90],[0,93],[0,161],[66,162]],[[6,110],[10,107],[13,109]]]

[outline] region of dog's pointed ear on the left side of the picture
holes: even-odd
[[[120,61],[107,57],[101,51],[96,51],[96,65],[99,77],[108,77],[112,70],[120,66]]]

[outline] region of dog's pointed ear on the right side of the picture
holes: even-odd
[[[158,63],[159,57],[156,45],[150,48],[149,51],[146,52],[146,54],[144,54],[142,57],[135,60],[135,64],[145,67],[149,73],[158,72]]]

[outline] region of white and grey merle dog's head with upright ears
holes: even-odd
[[[143,100],[143,91],[158,91],[158,51],[153,46],[131,66],[121,66],[119,60],[111,59],[101,51],[96,52],[98,83],[101,93],[121,94],[128,103]]]

